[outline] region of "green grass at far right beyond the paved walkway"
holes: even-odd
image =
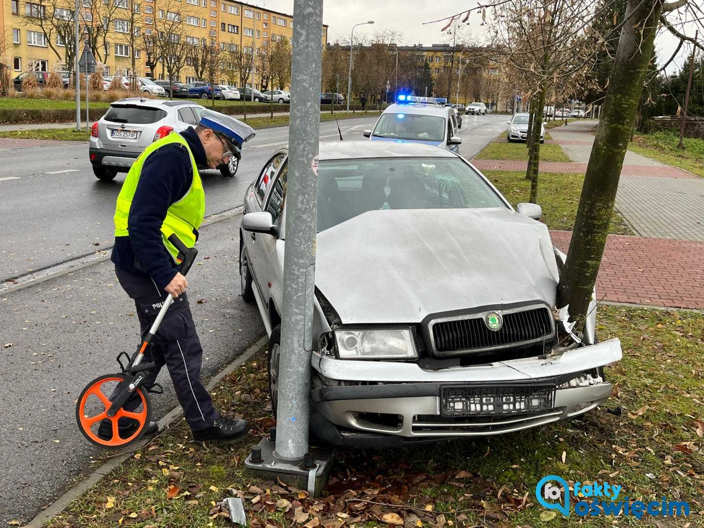
[[[677,148],[678,142],[679,134],[674,131],[636,134],[628,148],[648,158],[704,177],[704,139],[684,138],[684,150]]]

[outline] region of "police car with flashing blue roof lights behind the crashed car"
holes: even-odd
[[[397,102],[379,116],[374,130],[365,130],[371,141],[412,142],[458,152],[462,138],[454,110],[444,97],[399,95]]]

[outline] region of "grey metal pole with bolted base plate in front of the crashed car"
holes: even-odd
[[[332,459],[310,450],[310,353],[313,350],[322,0],[294,1],[284,299],[277,432],[252,448],[245,467],[320,494]],[[303,487],[301,486],[301,487]]]

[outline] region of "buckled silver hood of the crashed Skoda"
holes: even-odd
[[[554,306],[558,279],[547,227],[506,209],[375,210],[318,233],[315,284],[344,324]]]

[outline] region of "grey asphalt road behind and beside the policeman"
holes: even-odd
[[[467,158],[505,128],[503,115],[464,119],[460,153]],[[341,120],[340,126],[345,139],[361,139],[361,131],[372,122]],[[286,144],[287,134],[287,127],[259,130],[244,149],[237,177],[206,177],[206,213],[239,206],[244,189]],[[321,123],[320,137],[336,140],[334,122]],[[0,156],[0,278],[111,246],[115,196],[123,177],[96,180],[84,144],[11,149]],[[74,172],[56,172],[68,170]],[[200,265],[194,266],[189,280],[206,379],[264,334],[256,308],[239,296],[240,219],[234,215],[203,226]],[[0,524],[27,522],[97,465],[91,461],[103,451],[78,432],[75,398],[90,379],[115,371],[120,351],[136,346],[133,310],[109,261],[23,289],[0,291],[0,345],[12,344],[0,348],[0,384],[6,391],[0,400]],[[165,370],[159,381],[165,394],[153,398],[157,418],[176,405]]]

